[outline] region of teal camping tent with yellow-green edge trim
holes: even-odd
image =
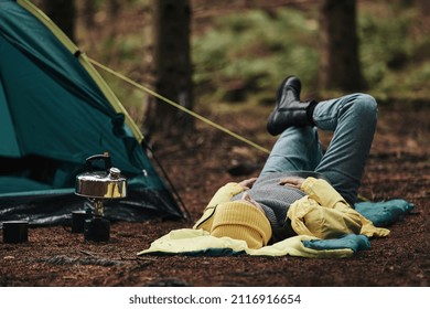
[[[29,1],[0,0],[0,223],[57,224],[88,206],[76,175],[105,152],[128,179],[107,216],[184,217],[143,143],[85,53]]]

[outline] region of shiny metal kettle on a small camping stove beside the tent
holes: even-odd
[[[94,162],[101,160],[104,171],[94,171]],[[93,217],[84,223],[85,241],[108,242],[110,222],[104,217],[104,203],[112,199],[127,196],[127,179],[121,171],[112,168],[108,153],[86,159],[87,172],[77,175],[75,194],[86,198],[93,205]]]

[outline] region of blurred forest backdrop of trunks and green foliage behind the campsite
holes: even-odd
[[[426,100],[426,0],[35,0],[90,57],[198,111],[270,103],[286,75],[305,95]],[[193,130],[176,108],[106,76],[147,135]],[[154,103],[158,102],[158,103]]]

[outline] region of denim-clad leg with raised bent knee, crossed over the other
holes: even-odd
[[[376,102],[365,94],[321,102],[313,119],[320,129],[334,131],[315,171],[353,205],[376,129]]]

